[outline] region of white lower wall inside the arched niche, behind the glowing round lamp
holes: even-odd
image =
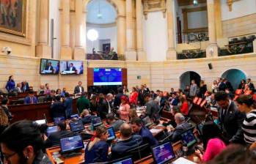
[[[110,40],[111,48],[114,48],[114,51],[117,51],[117,26],[106,27],[106,28],[95,28],[87,26],[87,31],[89,29],[95,29],[98,31],[99,37],[98,40],[93,42],[87,38],[87,53],[92,53],[92,48],[95,48],[95,51],[100,51],[100,42],[99,40]],[[86,37],[86,36],[85,36]]]

